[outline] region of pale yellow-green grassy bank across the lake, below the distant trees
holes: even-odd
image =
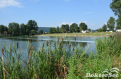
[[[42,34],[42,35],[35,35],[35,36],[87,36],[87,37],[92,37],[92,36],[108,36],[111,34],[111,32],[92,32],[92,33],[56,33],[56,34]]]

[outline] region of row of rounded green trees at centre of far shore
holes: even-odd
[[[51,27],[49,33],[81,32],[82,30],[87,30],[87,27],[88,26],[84,22],[80,23],[79,26],[76,23],[72,23],[70,26],[69,24],[62,24],[60,28],[59,26],[57,26],[57,28]],[[88,30],[91,31],[90,29]]]

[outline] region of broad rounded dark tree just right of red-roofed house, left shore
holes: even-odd
[[[12,36],[19,36],[19,24],[18,23],[9,23],[8,25],[8,32],[12,35]]]

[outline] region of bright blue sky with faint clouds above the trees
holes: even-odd
[[[0,25],[11,22],[27,24],[35,20],[38,27],[61,27],[80,24],[96,30],[110,17],[118,18],[110,9],[112,0],[0,0]]]

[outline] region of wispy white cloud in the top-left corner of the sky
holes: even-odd
[[[20,2],[17,2],[15,0],[0,0],[0,8],[4,8],[7,6],[23,7],[20,4]]]

